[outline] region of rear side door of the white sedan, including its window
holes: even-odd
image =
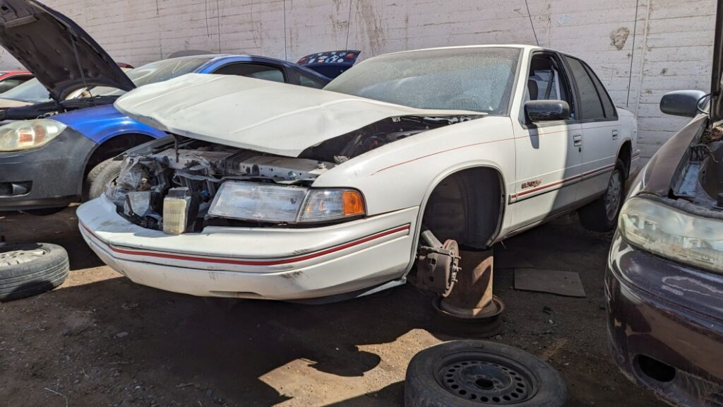
[[[572,56],[563,58],[575,84],[583,132],[583,165],[577,200],[589,201],[607,189],[622,129],[612,100],[591,68]]]

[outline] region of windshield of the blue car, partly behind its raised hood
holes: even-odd
[[[192,56],[173,59],[163,59],[151,62],[126,72],[136,86],[163,82],[177,76],[194,72],[206,62],[211,60],[208,56]],[[98,86],[91,91],[93,96],[121,96],[124,91],[106,86]]]

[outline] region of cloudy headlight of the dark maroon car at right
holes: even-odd
[[[695,267],[723,272],[723,222],[645,198],[620,211],[618,230],[634,246]]]

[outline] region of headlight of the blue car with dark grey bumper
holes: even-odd
[[[0,127],[0,151],[20,151],[45,146],[66,125],[51,119],[12,122]]]

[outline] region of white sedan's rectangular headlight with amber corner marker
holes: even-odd
[[[366,211],[364,199],[356,190],[226,181],[218,189],[208,213],[215,217],[295,224],[358,217]]]

